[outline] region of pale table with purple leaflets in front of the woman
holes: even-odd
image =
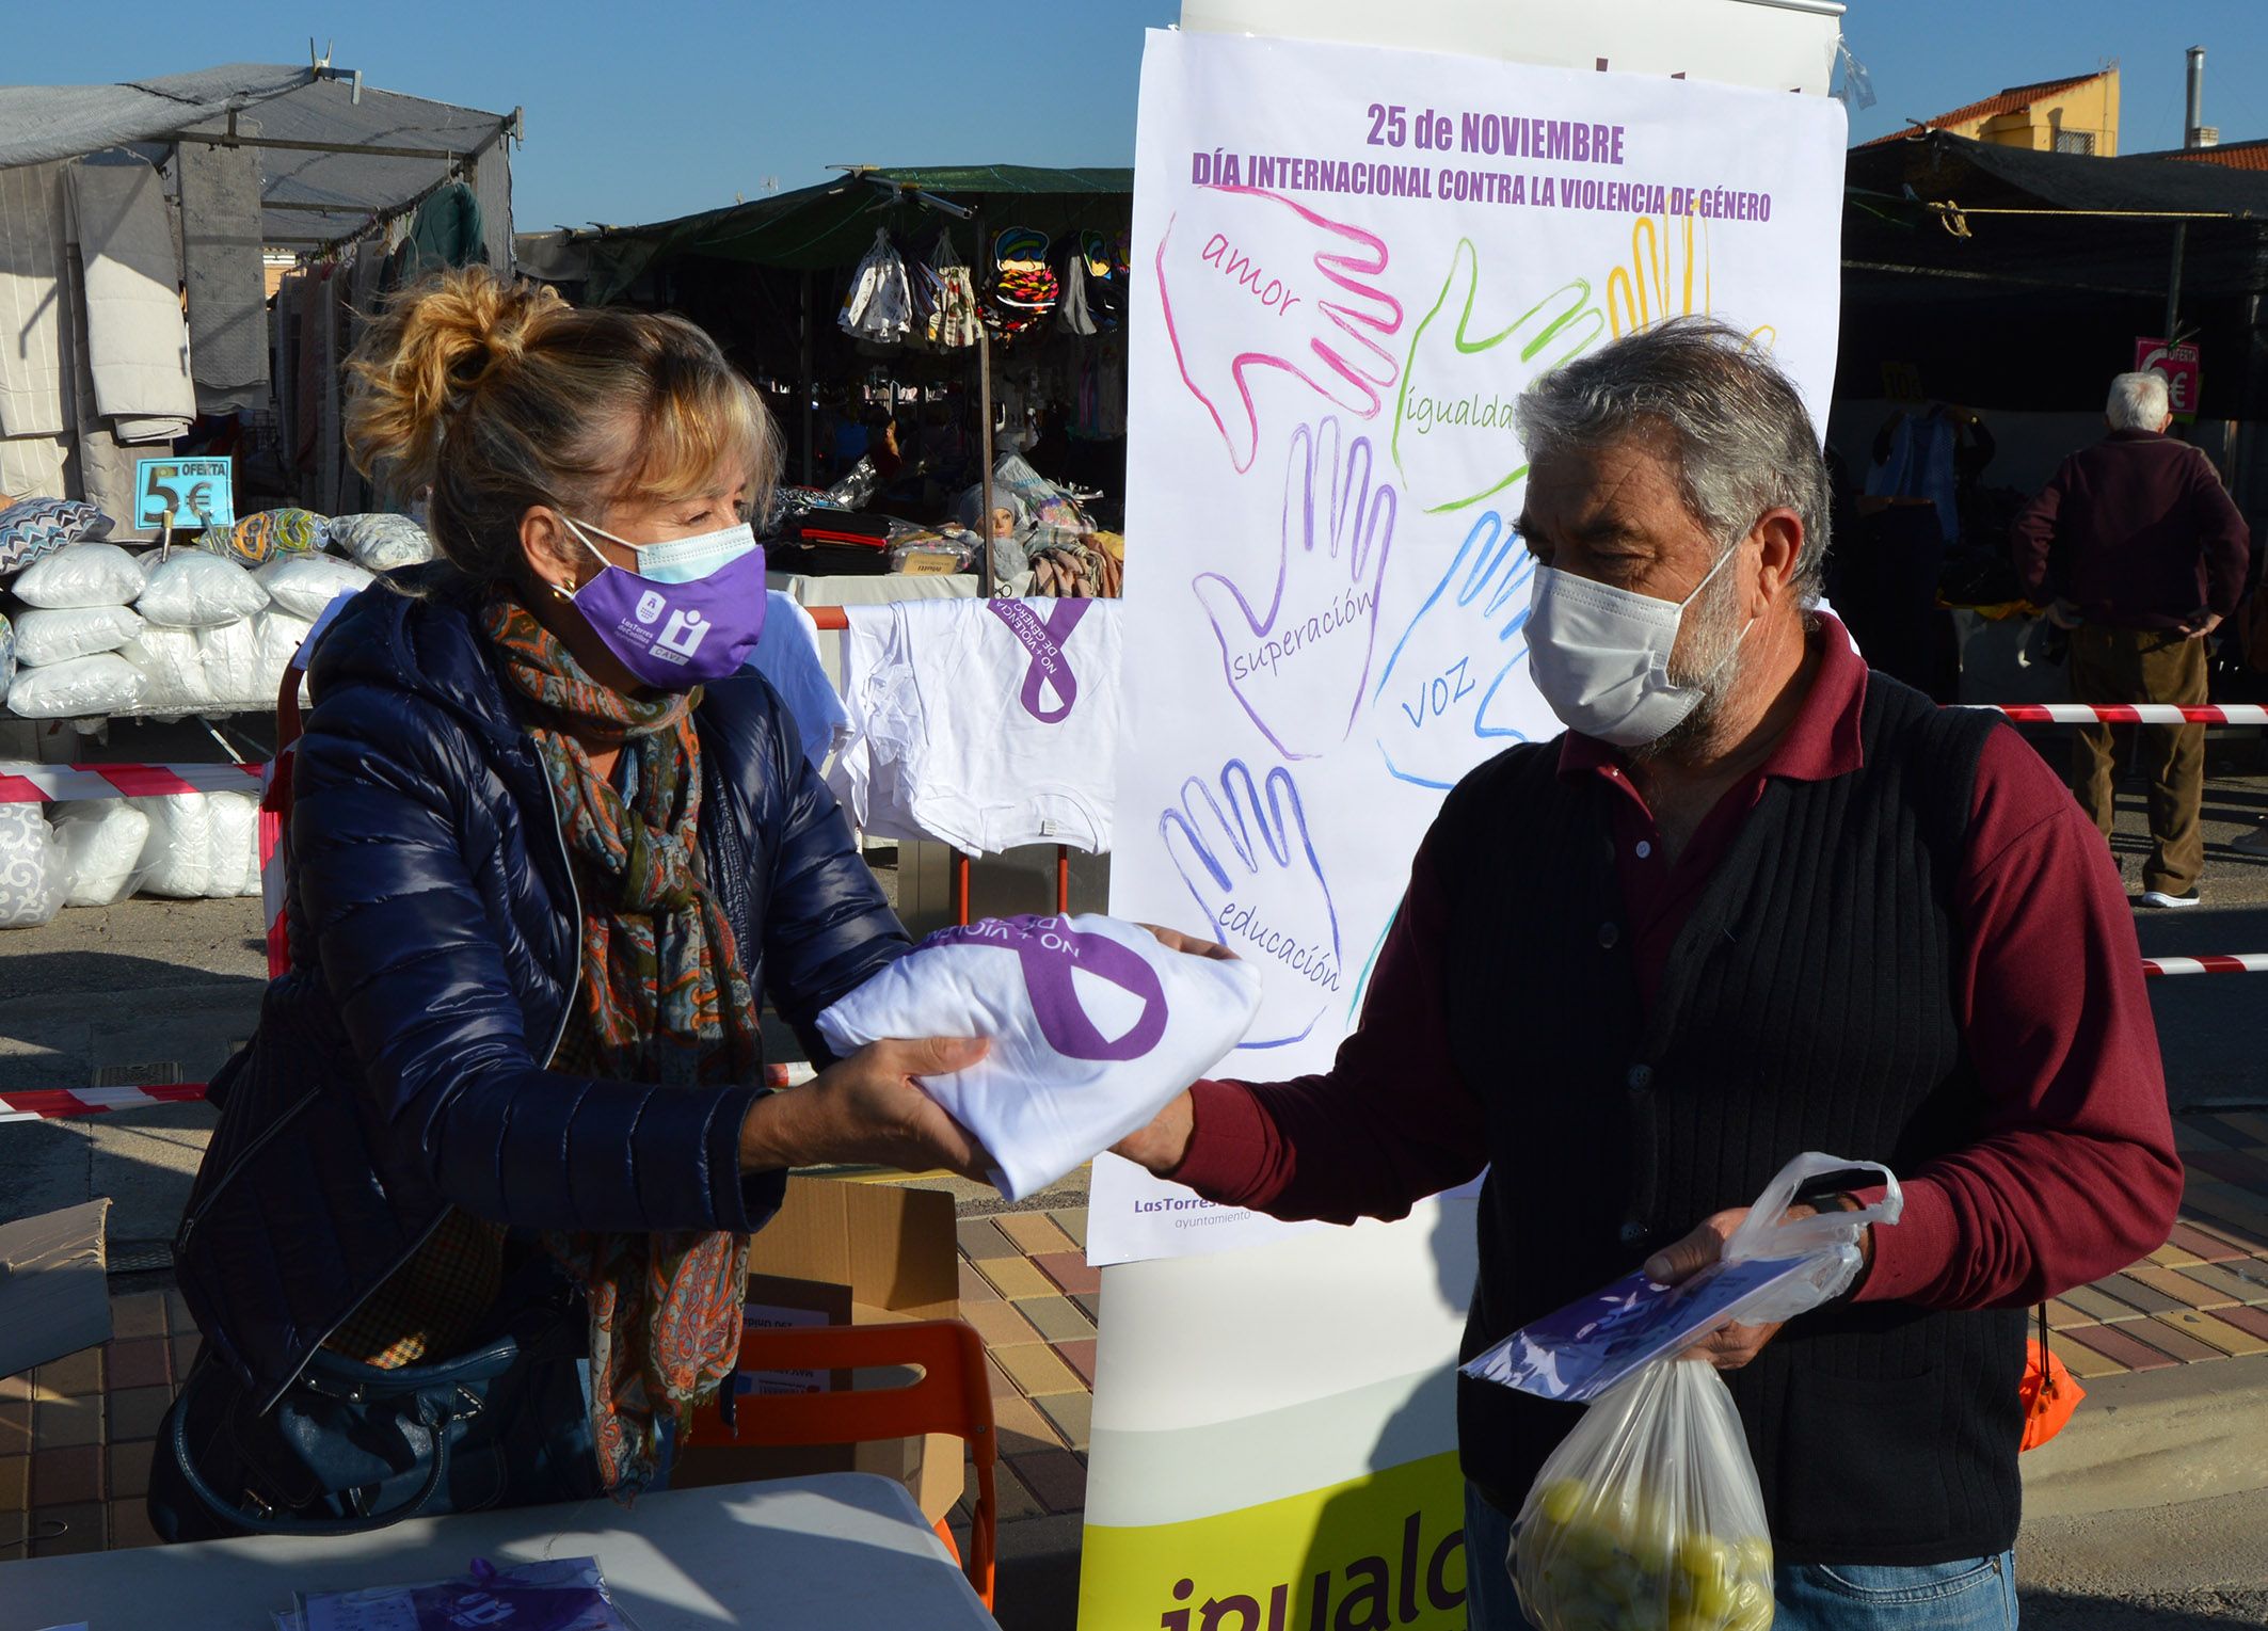
[[[204,1540],[0,1563],[0,1631],[268,1631],[297,1590],[406,1586],[594,1556],[642,1631],[993,1631],[900,1484],[828,1472],[615,1502],[424,1518],[342,1540]]]

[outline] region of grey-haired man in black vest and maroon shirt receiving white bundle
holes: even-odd
[[[1783,1631],[2014,1624],[2023,1309],[2157,1248],[2182,1193],[2116,869],[2014,730],[1817,610],[1819,438],[1740,333],[1592,352],[1520,433],[1567,733],[1442,803],[1331,1071],[1198,1082],[1120,1152],[1334,1223],[1488,1168],[1467,1359],[1696,1273],[1799,1152],[1889,1166],[1903,1220],[1844,1300],[1690,1357],[1740,1406]],[[1458,1379],[1481,1631],[1524,1624],[1508,1513],[1576,1415]]]

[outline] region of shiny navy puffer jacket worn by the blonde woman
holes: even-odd
[[[220,1130],[175,1245],[206,1341],[261,1400],[449,1207],[538,1229],[742,1229],[762,1087],[655,1089],[544,1066],[578,978],[551,785],[476,601],[442,567],[361,594],[318,649],[293,810],[293,973],[213,1082]],[[710,685],[701,860],[748,984],[810,1021],[905,932],[760,678]],[[812,1055],[823,1059],[823,1053]]]

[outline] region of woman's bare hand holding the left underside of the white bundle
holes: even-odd
[[[991,1159],[978,1141],[914,1084],[916,1075],[966,1071],[987,1046],[962,1037],[869,1043],[803,1087],[755,1100],[739,1125],[739,1164],[746,1171],[894,1166],[900,1173],[941,1166],[989,1182]]]

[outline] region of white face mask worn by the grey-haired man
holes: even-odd
[[[1535,567],[1529,674],[1560,724],[1617,749],[1658,742],[1683,724],[1708,685],[1672,683],[1669,653],[1678,644],[1685,608],[1701,599],[1710,578],[1737,553],[1737,544],[1724,551],[1683,601]],[[1749,637],[1753,622],[1742,626],[1740,640]],[[1740,640],[1724,662],[1740,651]]]

